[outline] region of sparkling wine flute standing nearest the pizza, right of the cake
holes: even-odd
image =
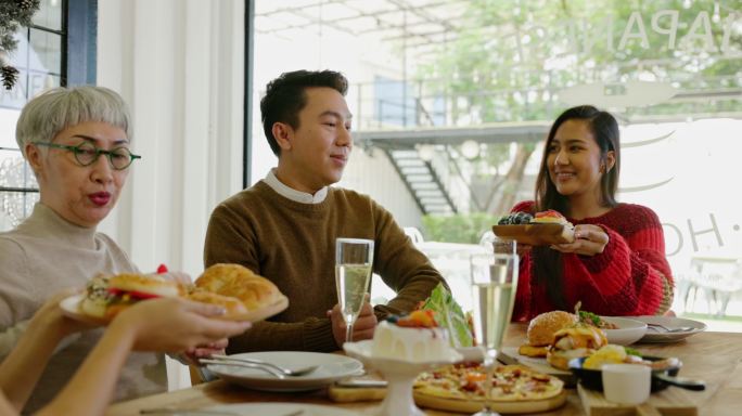
[[[474,336],[484,350],[486,400],[475,416],[498,415],[491,410],[492,372],[497,351],[513,314],[517,287],[519,258],[515,242],[497,237],[483,243],[483,251],[471,255],[471,284],[474,300]]]

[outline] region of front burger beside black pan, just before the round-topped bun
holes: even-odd
[[[571,360],[590,356],[605,344],[605,334],[594,326],[564,328],[554,334],[554,342],[547,352],[547,362],[553,367],[568,369]]]

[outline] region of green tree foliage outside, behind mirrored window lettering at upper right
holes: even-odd
[[[468,5],[456,39],[439,46],[417,75],[435,80],[430,82],[432,94],[456,98],[449,100],[455,122],[457,117],[482,122],[549,120],[562,109],[553,96],[556,91],[596,81],[673,81],[681,91],[742,86],[742,34],[730,31],[732,53],[719,50],[727,18],[739,23],[737,0],[472,0]],[[663,12],[668,10],[678,13],[675,44],[652,28],[654,17],[661,28],[669,27],[671,17]],[[702,13],[712,18],[716,51],[701,50],[698,39],[683,39]],[[649,44],[627,37],[618,48],[624,34],[636,35],[640,26]],[[741,100],[727,104],[742,107]],[[718,110],[714,103],[703,105]],[[682,103],[666,103],[661,114],[686,110]]]

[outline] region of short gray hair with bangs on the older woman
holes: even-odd
[[[129,107],[117,92],[105,87],[54,88],[29,101],[15,127],[15,141],[25,157],[31,142],[51,142],[62,130],[81,122],[106,122],[131,140]]]

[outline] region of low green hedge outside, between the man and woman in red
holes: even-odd
[[[484,212],[453,216],[423,216],[425,239],[477,244],[482,235],[497,224],[499,217]]]

